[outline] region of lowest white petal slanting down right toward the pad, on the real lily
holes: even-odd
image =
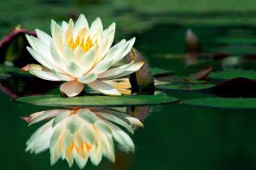
[[[95,89],[96,91],[101,92],[102,94],[121,95],[117,89],[113,88],[106,82],[96,80],[94,82],[88,83],[88,86],[90,86],[90,88]]]

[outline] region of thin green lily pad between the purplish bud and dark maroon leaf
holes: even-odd
[[[214,84],[167,84],[157,86],[160,90],[178,90],[178,91],[200,91],[207,88],[212,88]]]

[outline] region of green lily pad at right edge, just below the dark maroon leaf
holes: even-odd
[[[256,98],[201,98],[189,99],[182,102],[184,105],[223,109],[256,109]]]

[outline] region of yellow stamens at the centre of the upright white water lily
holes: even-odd
[[[90,36],[87,37],[86,41],[84,41],[84,37],[80,39],[80,37],[78,36],[75,41],[73,41],[73,39],[71,38],[68,42],[68,45],[73,50],[80,46],[84,50],[84,53],[86,53],[90,48],[92,48],[94,44],[96,44],[96,42],[97,41],[92,42]]]

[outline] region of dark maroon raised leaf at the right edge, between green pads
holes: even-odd
[[[256,81],[247,78],[232,78],[219,82],[212,88],[212,94],[228,98],[252,98],[256,97]]]

